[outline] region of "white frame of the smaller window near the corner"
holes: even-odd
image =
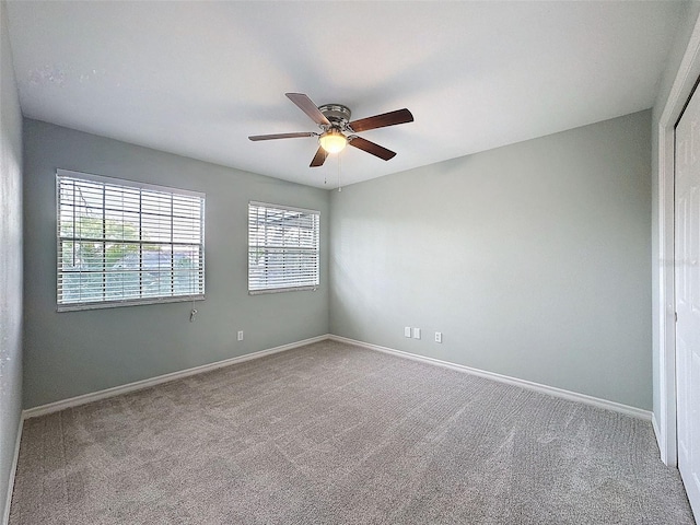
[[[265,288],[261,287],[255,287],[252,288],[252,260],[253,260],[253,249],[255,250],[259,250],[259,249],[282,249],[283,246],[271,246],[268,244],[262,245],[262,247],[258,244],[252,244],[252,218],[253,218],[253,213],[252,213],[252,207],[257,207],[257,208],[266,208],[266,209],[270,209],[270,210],[277,210],[277,211],[282,211],[282,212],[292,212],[292,213],[303,213],[306,215],[314,215],[315,217],[315,222],[314,222],[314,247],[310,248],[310,247],[301,247],[301,246],[292,246],[290,245],[289,247],[284,246],[284,248],[292,248],[292,249],[296,249],[300,254],[301,253],[308,253],[308,254],[313,254],[313,259],[314,259],[314,273],[312,273],[312,278],[313,278],[313,282],[310,283],[303,283],[303,284],[299,284],[299,285],[290,285],[289,282],[284,285],[267,285]],[[261,294],[268,294],[268,293],[283,293],[283,292],[303,292],[303,291],[313,291],[315,292],[318,287],[320,285],[320,211],[318,210],[311,210],[311,209],[306,209],[306,208],[299,208],[299,207],[294,207],[294,206],[288,206],[288,205],[276,205],[276,203],[271,203],[271,202],[260,202],[260,201],[256,201],[256,200],[250,200],[248,201],[248,230],[247,230],[247,236],[248,236],[248,250],[247,250],[247,259],[248,259],[248,294],[249,295],[261,295]],[[256,224],[258,224],[258,222],[256,221]],[[284,276],[284,277],[289,277],[290,281],[293,281],[294,279],[299,279],[300,276],[303,276],[303,272],[300,273],[291,273],[289,276]],[[267,278],[266,278],[267,279]]]

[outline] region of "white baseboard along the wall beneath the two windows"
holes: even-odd
[[[325,341],[328,339],[328,335],[318,337],[312,337],[311,339],[304,339],[302,341],[290,342],[289,345],[282,345],[280,347],[269,348],[267,350],[260,350],[253,353],[246,353],[237,358],[224,359],[223,361],[217,361],[215,363],[202,364],[201,366],[195,366],[192,369],[180,370],[178,372],[172,372],[170,374],[159,375],[156,377],[150,377],[148,380],[136,381],[133,383],[127,383],[126,385],[115,386],[106,388],[104,390],[97,390],[90,394],[83,394],[81,396],[70,397],[68,399],[61,399],[60,401],[49,402],[47,405],[40,405],[38,407],[24,410],[24,419],[37,418],[47,413],[58,412],[67,408],[78,407],[88,402],[97,401],[101,399],[107,399],[109,397],[119,396],[129,392],[142,390],[151,386],[160,385],[162,383],[168,383],[171,381],[180,380],[190,375],[202,374],[211,370],[222,369],[224,366],[231,366],[232,364],[243,363],[253,359],[260,359],[273,353],[283,352],[293,348],[311,345],[312,342]]]

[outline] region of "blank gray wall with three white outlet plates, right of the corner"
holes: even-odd
[[[332,192],[331,332],[650,409],[650,127],[648,110]]]

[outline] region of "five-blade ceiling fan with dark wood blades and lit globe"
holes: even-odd
[[[311,161],[310,167],[322,166],[329,153],[338,153],[348,144],[388,161],[396,156],[396,152],[358,137],[354,133],[413,121],[413,115],[406,108],[351,121],[350,108],[342,104],[324,104],[323,106],[316,106],[316,104],[303,93],[287,93],[287,97],[308,115],[311,119],[318,125],[322,132],[301,131],[298,133],[254,135],[248,137],[248,139],[258,141],[318,137],[318,150]]]

